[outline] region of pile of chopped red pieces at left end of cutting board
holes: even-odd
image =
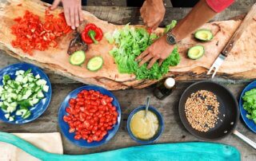
[[[46,10],[44,23],[38,15],[28,10],[22,18],[15,18],[14,21],[18,23],[11,27],[11,33],[16,36],[11,44],[14,48],[22,49],[24,53],[31,54],[33,49],[44,51],[48,47],[56,47],[56,38],[71,31],[70,26],[66,25],[63,13],[54,17],[49,10]]]

